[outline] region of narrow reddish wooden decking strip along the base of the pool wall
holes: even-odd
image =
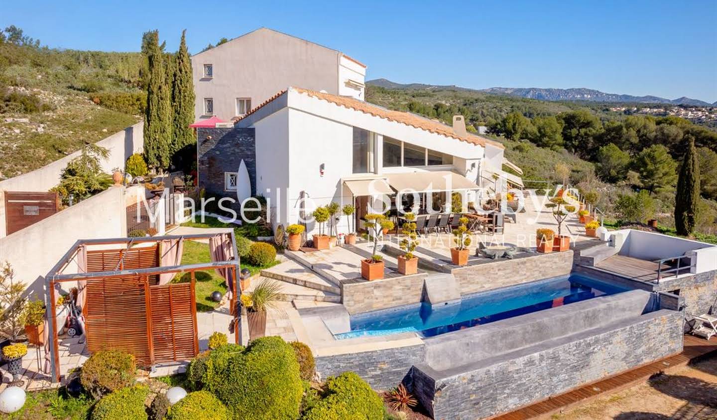
[[[717,355],[717,337],[712,337],[712,339],[708,341],[694,337],[693,335],[685,335],[684,350],[678,355],[657,360],[640,368],[627,370],[626,372],[619,373],[602,381],[590,383],[586,386],[576,388],[573,391],[561,393],[558,396],[534,403],[522,409],[491,417],[491,419],[526,420],[547,418],[561,409],[578,406],[606,393],[614,393],[629,388],[630,386],[635,386],[638,383],[647,381],[652,375],[671,373],[674,370],[683,368],[690,362],[695,362],[711,355]]]

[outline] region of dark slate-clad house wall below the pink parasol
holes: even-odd
[[[211,136],[212,139],[207,139]],[[224,190],[224,172],[237,172],[244,160],[252,184],[252,195],[257,192],[257,157],[254,129],[221,128],[197,129],[197,174],[199,188],[209,195],[234,197]],[[223,204],[224,207],[230,207]],[[231,206],[239,210],[239,204]]]

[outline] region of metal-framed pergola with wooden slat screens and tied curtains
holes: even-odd
[[[209,240],[213,262],[181,265],[179,252],[173,265],[161,266],[162,253],[168,252],[163,248],[174,244],[181,251],[184,241],[198,239]],[[212,251],[217,246],[222,249]],[[199,353],[194,300],[196,271],[219,270],[227,279],[234,327],[238,330],[239,314],[234,311],[236,297],[241,293],[238,255],[233,231],[75,242],[45,276],[49,338],[45,350],[46,353],[49,350],[51,380],[60,381],[56,286],[77,282],[80,301],[77,303],[85,316],[84,334],[90,352],[122,348],[136,356],[139,353],[138,361],[146,365],[184,360]],[[73,261],[77,263],[77,272],[64,274]],[[176,273],[188,273],[191,281],[169,284],[168,277]],[[166,284],[161,284],[160,279]]]

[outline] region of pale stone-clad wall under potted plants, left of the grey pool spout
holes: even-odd
[[[426,274],[342,284],[343,306],[349,314],[421,302]]]

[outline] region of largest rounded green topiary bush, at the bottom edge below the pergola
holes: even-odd
[[[281,337],[261,337],[243,349],[212,350],[204,374],[211,391],[234,419],[295,420],[303,385],[293,348]]]

